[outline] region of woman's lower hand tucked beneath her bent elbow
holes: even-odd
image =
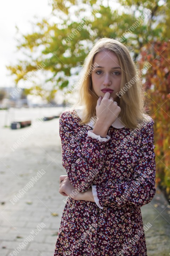
[[[79,193],[70,183],[67,175],[60,176],[60,188],[59,193],[62,194],[62,196],[68,196],[72,199],[76,198],[76,195]],[[71,194],[71,196],[70,196]],[[75,194],[75,195],[74,195]],[[76,199],[75,199],[76,200]]]

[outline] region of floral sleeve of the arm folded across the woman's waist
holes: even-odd
[[[133,204],[141,207],[149,203],[155,194],[155,154],[153,144],[153,120],[142,129],[139,156],[132,178],[114,183],[111,187],[96,186],[102,207]]]

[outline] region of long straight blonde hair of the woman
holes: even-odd
[[[91,117],[96,116],[98,96],[91,90],[91,73],[94,68],[95,55],[103,50],[114,52],[119,59],[122,74],[120,91],[121,89],[124,90],[125,84],[128,84],[137,75],[134,61],[124,44],[112,38],[102,38],[95,43],[84,61],[78,85],[79,100],[76,106],[83,106],[83,118],[80,124],[88,123]],[[121,108],[119,117],[127,128],[135,129],[138,123],[146,119],[144,91],[139,81],[135,81],[120,98],[118,97],[117,103]]]

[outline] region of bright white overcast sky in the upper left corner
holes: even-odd
[[[16,28],[23,34],[32,32],[29,21],[34,16],[49,17],[52,7],[49,0],[5,0],[0,1],[0,87],[14,86],[12,78],[7,76],[5,65],[16,63],[19,56],[16,52]]]

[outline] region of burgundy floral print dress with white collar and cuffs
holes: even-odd
[[[75,109],[60,116],[62,164],[76,190],[92,187],[95,202],[67,197],[54,256],[147,256],[140,207],[155,194],[153,119],[129,129],[117,118],[107,138],[79,121]]]

